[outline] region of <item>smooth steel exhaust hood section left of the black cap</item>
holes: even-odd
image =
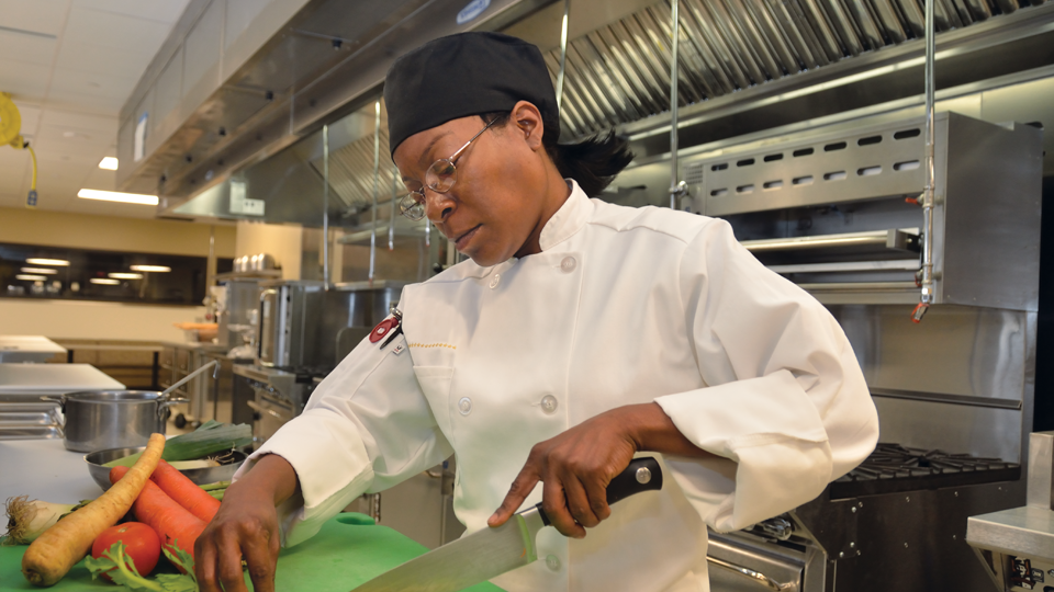
[[[354,111],[396,56],[438,36],[501,29],[542,3],[193,0],[122,110],[117,184],[157,192],[171,209]],[[224,53],[239,27],[261,21],[273,33],[239,48],[250,57]]]

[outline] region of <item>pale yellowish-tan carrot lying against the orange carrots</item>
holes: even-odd
[[[128,478],[88,505],[59,520],[25,549],[22,574],[33,585],[53,585],[91,550],[100,533],[117,523],[132,508],[165,449],[165,436],[154,434],[143,456],[127,470]]]

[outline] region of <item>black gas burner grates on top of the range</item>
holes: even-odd
[[[859,467],[831,483],[831,498],[1017,481],[1020,478],[1021,465],[1000,458],[879,443]]]

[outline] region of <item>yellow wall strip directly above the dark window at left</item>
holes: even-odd
[[[216,257],[233,258],[233,225],[0,208],[0,242],[21,244],[208,257],[210,227],[215,229]]]

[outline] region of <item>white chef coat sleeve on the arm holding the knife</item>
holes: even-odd
[[[874,449],[878,417],[841,327],[713,220],[684,252],[680,289],[707,388],[655,401],[718,458],[668,465],[718,531],[806,503]]]

